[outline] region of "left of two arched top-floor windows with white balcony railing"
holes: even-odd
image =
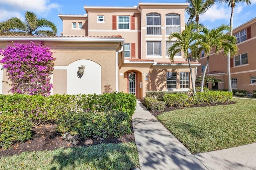
[[[146,18],[146,34],[161,35],[161,16],[156,13],[151,13],[147,14]]]

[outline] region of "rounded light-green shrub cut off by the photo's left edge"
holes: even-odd
[[[0,114],[0,148],[32,138],[32,124],[24,114]]]

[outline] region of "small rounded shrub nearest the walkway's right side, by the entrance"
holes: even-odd
[[[154,97],[145,97],[144,105],[149,111],[164,111],[164,101],[159,101]]]

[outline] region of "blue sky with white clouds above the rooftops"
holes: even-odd
[[[256,17],[256,0],[250,0],[251,5],[236,4],[234,13],[234,28]],[[26,10],[36,13],[38,18],[46,18],[56,24],[58,36],[62,29],[62,20],[58,14],[86,14],[83,8],[87,6],[137,6],[138,2],[168,2],[184,3],[186,0],[0,0],[0,22],[11,17],[24,20]],[[228,4],[215,4],[204,15],[200,22],[209,29],[221,24],[229,24],[231,8]],[[188,20],[189,16],[185,14]]]

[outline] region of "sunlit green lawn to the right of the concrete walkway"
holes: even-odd
[[[256,100],[162,113],[157,119],[192,154],[256,142]]]

